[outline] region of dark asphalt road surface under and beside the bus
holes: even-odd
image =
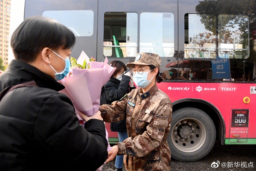
[[[211,167],[213,162],[218,164],[218,168]],[[114,164],[114,160],[108,162],[103,166],[102,171],[115,171]],[[214,164],[212,166],[214,166]],[[248,166],[251,168],[248,168]],[[171,170],[256,171],[256,145],[221,145],[220,142],[216,141],[212,151],[197,162],[179,162],[172,159]],[[125,171],[125,169],[123,171]]]

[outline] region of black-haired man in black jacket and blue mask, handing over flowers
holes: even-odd
[[[67,27],[45,17],[27,18],[13,33],[15,60],[0,75],[0,92],[32,80],[37,87],[16,88],[0,100],[1,171],[95,171],[107,159],[100,112],[82,127],[72,101],[58,93],[74,44]]]

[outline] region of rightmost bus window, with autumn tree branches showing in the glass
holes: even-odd
[[[218,15],[218,56],[249,57],[249,20],[245,15]]]

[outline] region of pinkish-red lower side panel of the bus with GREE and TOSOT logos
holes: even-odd
[[[232,109],[249,109],[248,127],[254,125],[256,115],[254,114],[256,106],[250,105],[256,101],[256,94],[252,93],[252,87],[255,84],[244,83],[205,83],[205,82],[180,82],[168,83],[162,82],[157,84],[158,88],[165,92],[171,99],[172,103],[182,99],[201,99],[215,106],[221,113],[226,127],[226,139],[229,139],[230,119]],[[254,92],[255,90],[253,90]],[[250,102],[245,104],[244,98],[248,97]],[[227,99],[223,101],[223,99]],[[232,100],[232,103],[230,101]],[[191,100],[190,100],[191,101]],[[220,102],[221,101],[221,102]],[[189,104],[189,101],[186,102]],[[217,114],[215,115],[215,117]],[[248,129],[248,138],[256,137],[256,129]]]

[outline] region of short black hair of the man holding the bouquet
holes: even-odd
[[[11,38],[15,59],[27,63],[35,61],[45,47],[70,49],[75,43],[76,37],[70,29],[55,20],[40,16],[26,18]]]

